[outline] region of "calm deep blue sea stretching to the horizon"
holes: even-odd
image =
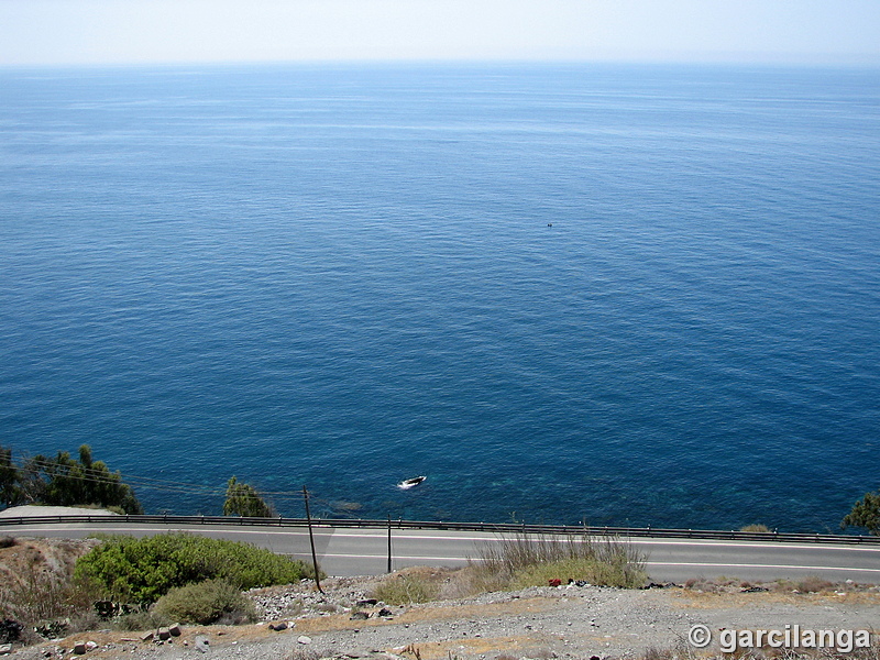
[[[0,446],[82,443],[150,513],[834,531],[880,70],[0,70]]]

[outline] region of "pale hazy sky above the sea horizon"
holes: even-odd
[[[315,59],[880,64],[880,0],[0,0],[0,66]]]

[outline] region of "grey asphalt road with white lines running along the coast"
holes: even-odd
[[[116,532],[141,537],[168,530],[246,541],[311,559],[308,530],[296,527],[118,524],[110,517],[107,522],[3,526],[0,535],[77,538]],[[647,556],[648,572],[657,582],[681,583],[690,578],[718,575],[751,581],[816,575],[835,582],[880,584],[880,546],[648,538],[628,541]],[[392,566],[460,566],[469,557],[479,556],[481,544],[495,542],[498,537],[493,534],[393,529]],[[316,526],[315,544],[318,562],[330,575],[369,575],[387,570],[387,530]]]

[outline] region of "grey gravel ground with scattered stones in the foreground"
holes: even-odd
[[[507,658],[636,658],[648,649],[686,645],[689,630],[725,628],[880,628],[880,592],[726,593],[666,587],[536,587],[407,607],[366,604],[375,579],[324,582],[326,595],[304,583],[252,595],[265,622],[252,626],[184,628],[157,645],[119,631],[81,634],[16,650],[11,660],[69,658],[76,641],[94,641],[87,658],[135,660],[496,660]],[[362,602],[358,605],[358,602]],[[367,618],[352,618],[358,615]],[[270,628],[285,623],[283,630]],[[878,639],[875,638],[875,642]],[[683,647],[682,647],[683,648]],[[717,644],[708,647],[717,650]]]

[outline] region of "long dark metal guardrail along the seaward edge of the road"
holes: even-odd
[[[153,524],[167,526],[226,525],[260,527],[306,527],[305,518],[246,518],[229,516],[32,516],[2,518],[0,527],[21,525],[73,525],[73,524]],[[312,518],[314,527],[429,529],[438,531],[477,531],[499,535],[587,535],[597,537],[642,537],[670,539],[706,539],[735,541],[773,541],[781,543],[836,543],[880,546],[877,536],[850,536],[832,534],[788,534],[777,531],[725,531],[715,529],[662,529],[653,527],[581,527],[571,525],[526,525],[515,522],[438,522],[430,520],[353,520],[349,518]]]

